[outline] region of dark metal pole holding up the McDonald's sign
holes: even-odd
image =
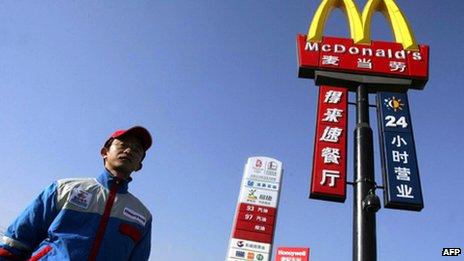
[[[375,195],[374,150],[369,126],[369,93],[361,84],[356,92],[355,184],[353,207],[353,261],[376,261],[375,213],[380,200]]]

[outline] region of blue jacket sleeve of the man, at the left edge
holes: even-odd
[[[48,186],[7,228],[0,240],[0,261],[24,259],[47,238],[57,215],[57,183]]]

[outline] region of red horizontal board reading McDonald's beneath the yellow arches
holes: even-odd
[[[354,44],[352,39],[323,37],[322,42],[307,42],[298,35],[300,77],[314,78],[314,70],[388,76],[412,79],[412,88],[423,89],[428,80],[429,47],[404,50],[399,43],[372,41]]]

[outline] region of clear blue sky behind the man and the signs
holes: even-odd
[[[425,208],[378,212],[378,259],[441,260],[464,247],[464,2],[396,2],[431,46],[430,80],[409,92]],[[344,204],[308,199],[317,88],[297,78],[295,37],[319,3],[2,1],[0,226],[53,180],[98,175],[106,137],[140,124],[155,142],[131,191],[154,215],[151,260],[224,259],[250,156],[284,165],[275,248],[351,260],[352,188]],[[347,28],[336,11],[326,35]],[[373,28],[392,40],[382,16]]]

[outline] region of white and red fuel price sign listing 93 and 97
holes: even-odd
[[[226,261],[270,261],[281,179],[282,162],[248,158]]]

